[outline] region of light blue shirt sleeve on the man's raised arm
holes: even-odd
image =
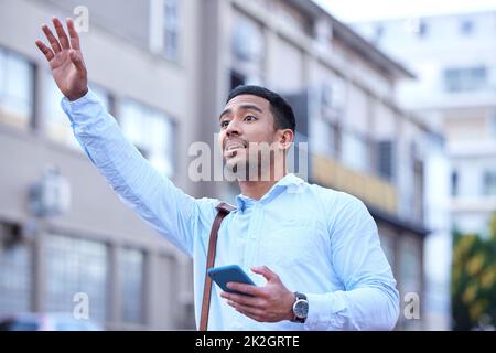
[[[195,200],[160,174],[123,137],[91,90],[74,101],[63,98],[61,104],[85,153],[123,203],[191,256],[201,213],[206,223],[213,220],[215,201]]]

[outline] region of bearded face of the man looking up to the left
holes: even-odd
[[[260,159],[255,158],[258,153],[254,150],[250,153],[250,149],[257,149],[260,142],[272,145],[278,140],[279,133],[274,129],[274,118],[267,99],[254,95],[234,97],[220,114],[219,126],[218,142],[228,165],[257,163],[258,168],[266,167],[260,165]]]

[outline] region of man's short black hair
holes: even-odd
[[[267,99],[270,103],[270,110],[274,117],[273,127],[276,129],[291,129],[293,132],[296,128],[293,108],[277,93],[260,86],[240,85],[234,88],[227,97],[226,104],[236,96],[254,95]]]

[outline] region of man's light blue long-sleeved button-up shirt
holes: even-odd
[[[194,199],[154,170],[122,136],[94,93],[62,100],[74,135],[120,199],[194,259],[195,318],[200,323],[215,199]],[[215,285],[209,330],[391,330],[399,295],[365,205],[343,192],[288,174],[259,201],[239,195],[223,222],[215,266],[250,271],[268,266],[291,291],[308,296],[305,323],[260,323],[229,307]]]

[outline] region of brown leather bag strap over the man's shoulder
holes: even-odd
[[[211,237],[208,240],[208,253],[205,268],[205,285],[203,286],[203,300],[202,300],[202,315],[200,319],[200,331],[206,331],[208,327],[208,313],[211,310],[211,295],[212,295],[212,278],[207,275],[207,270],[214,267],[215,261],[215,250],[217,248],[217,236],[218,229],[220,228],[220,223],[225,216],[227,216],[231,211],[236,210],[228,203],[222,202],[216,207],[217,215],[215,216],[214,224],[211,229]]]

